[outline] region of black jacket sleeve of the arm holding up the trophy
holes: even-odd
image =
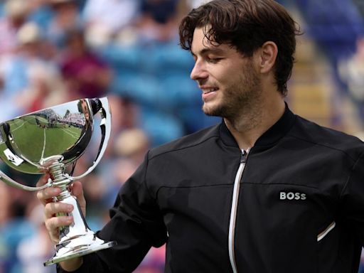
[[[137,171],[124,183],[110,220],[97,236],[117,245],[86,255],[77,272],[132,272],[149,249],[166,242],[166,227],[156,200],[146,185],[148,155]],[[58,267],[58,272],[65,272]]]

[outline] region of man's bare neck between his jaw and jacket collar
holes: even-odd
[[[264,132],[284,114],[284,100],[264,104],[259,110],[235,119],[224,118],[225,124],[240,149],[250,149]]]

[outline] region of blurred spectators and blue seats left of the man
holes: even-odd
[[[151,146],[218,122],[200,112],[179,18],[197,1],[7,0],[0,2],[0,120],[85,97],[109,98],[112,137],[84,178],[87,223],[102,227],[122,183]],[[192,118],[191,118],[192,117]],[[75,173],[95,159],[97,134]],[[38,177],[3,171],[34,186]],[[0,183],[0,272],[54,272],[35,194]],[[163,272],[164,248],[137,272]]]

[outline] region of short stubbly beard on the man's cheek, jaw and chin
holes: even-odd
[[[204,104],[202,109],[208,116],[223,117],[235,122],[240,117],[250,117],[254,122],[259,117],[262,105],[262,87],[259,75],[247,63],[236,82],[224,87],[223,97],[215,105]]]

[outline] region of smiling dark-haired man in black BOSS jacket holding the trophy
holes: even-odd
[[[118,245],[61,267],[132,272],[166,243],[166,272],[356,272],[364,145],[285,105],[296,34],[272,0],[215,0],[183,18],[203,112],[223,121],[151,149],[98,233]],[[73,221],[53,217],[73,209],[47,203],[59,192],[38,193],[55,243]],[[85,210],[80,183],[73,193]]]

